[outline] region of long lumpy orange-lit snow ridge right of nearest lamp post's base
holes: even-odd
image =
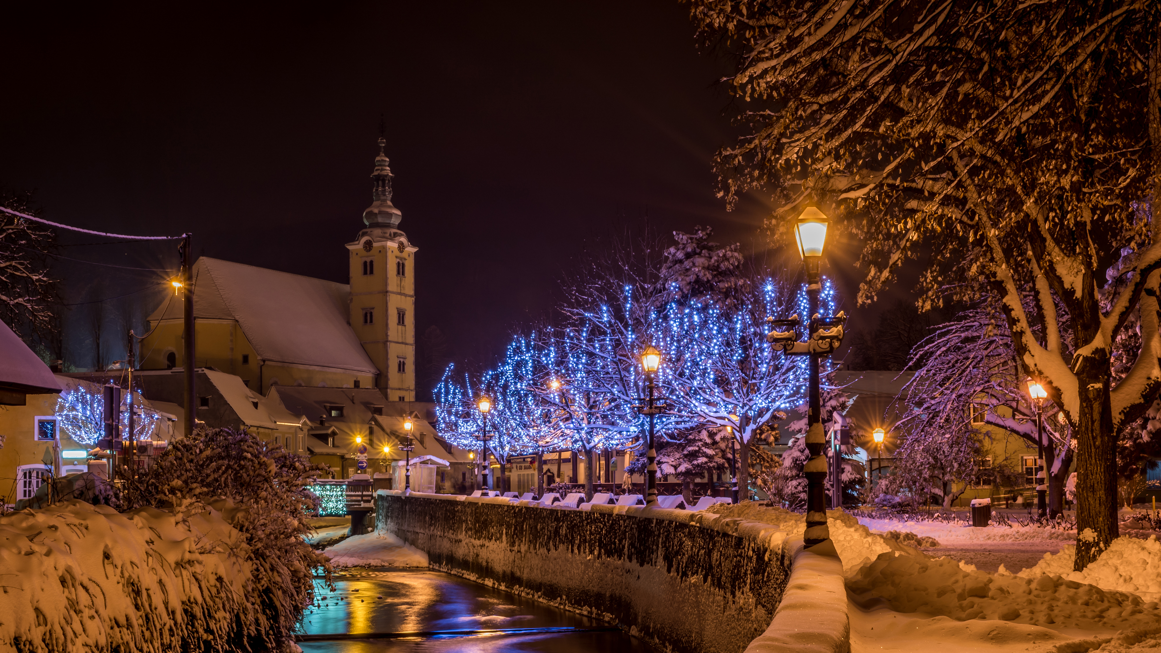
[[[1156,602],[1106,591],[1059,575],[993,575],[949,558],[885,553],[848,580],[864,608],[884,602],[899,612],[956,620],[1000,619],[1054,629],[1119,630],[1161,624]]]

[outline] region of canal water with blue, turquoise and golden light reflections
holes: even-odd
[[[604,622],[432,571],[361,569],[316,580],[305,653],[655,653]]]

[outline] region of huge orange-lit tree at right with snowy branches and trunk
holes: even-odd
[[[1156,5],[694,0],[692,12],[705,42],[737,55],[726,82],[748,101],[747,134],[717,156],[730,201],[772,188],[783,234],[807,202],[824,207],[863,242],[860,302],[921,254],[922,308],[1000,299],[1024,368],[1077,438],[1084,568],[1117,536],[1120,425],[1161,389]],[[1125,246],[1134,256],[1113,268]],[[1110,271],[1124,282],[1102,288]],[[1111,347],[1137,311],[1140,354],[1113,382]]]

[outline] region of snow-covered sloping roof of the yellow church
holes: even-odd
[[[351,286],[208,257],[193,278],[194,317],[237,321],[260,359],[378,373],[347,323]],[[150,321],[181,316],[171,301]]]

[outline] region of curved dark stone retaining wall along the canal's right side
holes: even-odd
[[[380,490],[376,526],[432,568],[619,624],[675,652],[738,653],[786,589],[785,533],[706,512]]]

